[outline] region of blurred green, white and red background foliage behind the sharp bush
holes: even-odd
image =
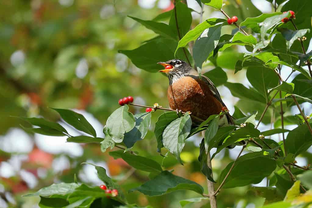
[[[192,28],[199,22],[200,7],[195,0],[187,1],[192,12]],[[240,20],[273,12],[265,0],[224,0],[223,8]],[[241,7],[244,5],[244,7]],[[134,188],[148,179],[144,172],[134,171],[122,159],[114,160],[101,153],[98,144],[69,144],[66,138],[33,135],[24,131],[26,123],[10,116],[43,116],[58,121],[53,108],[70,108],[82,113],[101,133],[107,117],[118,106],[118,99],[133,96],[134,103],[152,106],[158,102],[168,107],[168,80],[158,73],[148,73],[135,67],[118,50],[132,50],[156,35],[127,15],[151,20],[173,8],[170,0],[12,0],[0,7],[0,207],[36,207],[37,197],[21,197],[53,182],[78,181],[100,185],[94,167],[80,165],[92,162],[105,167],[124,190]],[[196,12],[197,11],[197,12]],[[237,13],[238,12],[238,13]],[[221,17],[220,12],[205,7],[203,19]],[[232,33],[232,26],[222,28],[222,34]],[[236,30],[234,29],[233,32]],[[229,81],[248,83],[245,72],[234,75],[235,63],[242,57],[241,46],[228,48],[219,54],[218,66],[227,72]],[[231,56],[231,59],[228,57]],[[167,60],[163,60],[167,61]],[[204,72],[213,69],[206,64]],[[219,87],[222,95],[230,95]],[[237,98],[224,101],[231,112]],[[132,113],[144,109],[130,106]],[[152,114],[150,131],[144,141],[137,142],[134,151],[149,156],[176,175],[193,180],[203,187],[206,179],[200,172],[197,157],[200,136],[189,139],[183,153],[184,166],[170,156],[163,160],[156,153],[154,124],[161,112]],[[269,119],[269,117],[268,117]],[[154,122],[153,122],[154,121]],[[66,125],[65,125],[66,126]],[[79,135],[70,129],[72,135]],[[66,128],[67,129],[67,128]],[[239,148],[240,149],[240,148]],[[239,149],[222,150],[212,161],[214,177],[236,157]],[[117,150],[116,148],[114,150]],[[311,162],[309,152],[304,164]],[[299,159],[298,159],[299,161]],[[299,161],[300,162],[300,161]],[[257,186],[265,186],[266,179]],[[218,195],[219,207],[258,207],[264,199],[251,187],[224,189]],[[249,190],[249,191],[248,191]],[[246,194],[247,193],[247,194]],[[179,207],[181,199],[196,196],[191,191],[177,191],[160,197],[148,197],[131,192],[128,200],[140,206]],[[209,207],[202,201],[189,207]]]

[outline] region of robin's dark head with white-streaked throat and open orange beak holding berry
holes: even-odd
[[[165,67],[165,69],[159,72],[166,73],[170,83],[175,82],[183,76],[194,75],[195,71],[195,69],[181,59],[172,59],[167,62],[158,62],[157,64],[161,64]]]

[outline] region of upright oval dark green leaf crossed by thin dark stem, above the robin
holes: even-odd
[[[182,38],[189,31],[191,24],[191,10],[186,4],[183,4],[182,2],[176,2],[169,21],[169,26],[172,28],[173,34],[179,36],[179,38]],[[177,25],[179,28],[179,33]]]

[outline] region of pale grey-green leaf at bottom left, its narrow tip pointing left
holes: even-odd
[[[41,188],[33,194],[27,194],[24,196],[66,195],[74,192],[77,187],[79,187],[77,183],[55,183],[51,186]]]

